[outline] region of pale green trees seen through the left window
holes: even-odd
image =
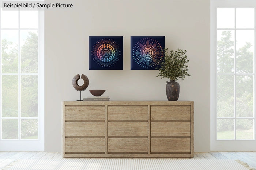
[[[27,32],[27,38],[20,47],[21,73],[38,72],[38,36]],[[2,39],[2,72],[18,73],[18,44]],[[18,76],[2,76],[2,116],[18,117]],[[38,76],[20,77],[21,116],[38,117]],[[18,139],[18,119],[2,120],[2,138]],[[38,119],[21,120],[21,138],[37,139]]]

